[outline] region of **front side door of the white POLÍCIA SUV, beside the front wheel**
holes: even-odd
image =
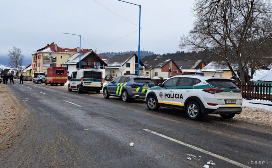
[[[157,92],[158,103],[161,104],[173,104],[173,92],[174,88],[178,83],[179,78],[171,78],[165,81],[162,87]]]

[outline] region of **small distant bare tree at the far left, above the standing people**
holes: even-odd
[[[15,69],[19,68],[22,60],[25,58],[23,56],[21,49],[17,47],[13,47],[11,50],[8,50],[9,53],[7,56],[9,57],[9,66],[14,67]]]

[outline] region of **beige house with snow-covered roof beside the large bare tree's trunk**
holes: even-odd
[[[238,67],[232,65],[234,72],[237,72]],[[220,76],[224,78],[232,78],[232,72],[228,68],[225,62],[212,61],[204,68],[201,69],[205,76]]]

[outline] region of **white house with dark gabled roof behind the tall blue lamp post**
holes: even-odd
[[[105,67],[106,78],[112,80],[124,73],[137,74],[138,70],[138,56],[136,54],[125,54],[113,56],[108,62],[108,66]],[[140,60],[139,71],[143,71],[144,64]],[[122,68],[120,68],[122,67]],[[105,79],[106,80],[106,79]]]

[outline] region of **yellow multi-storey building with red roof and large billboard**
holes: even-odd
[[[46,74],[48,67],[61,66],[64,61],[70,58],[71,54],[53,42],[31,55],[31,76],[36,77],[38,74]]]

